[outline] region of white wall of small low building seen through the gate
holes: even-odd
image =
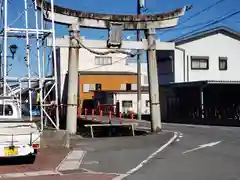
[[[137,93],[117,93],[114,96],[114,102],[119,101],[120,112],[123,112],[122,101],[132,101],[133,111],[137,113]],[[142,114],[150,114],[150,107],[146,107],[146,101],[149,100],[148,93],[142,93]]]

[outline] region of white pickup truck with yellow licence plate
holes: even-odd
[[[22,119],[18,99],[0,96],[0,158],[30,156],[34,160],[40,135],[36,123]]]

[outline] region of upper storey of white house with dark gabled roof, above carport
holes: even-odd
[[[238,32],[220,26],[172,41],[175,51],[159,52],[158,55],[161,84],[240,81]]]

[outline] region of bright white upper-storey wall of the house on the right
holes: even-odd
[[[215,34],[179,47],[186,50],[185,81],[240,81],[240,41],[224,34]],[[187,63],[187,56],[189,61]],[[191,70],[191,56],[209,56],[208,70]],[[219,57],[228,58],[228,69],[219,70]],[[184,82],[183,54],[175,50],[175,82]],[[187,67],[188,64],[188,67]],[[189,71],[187,71],[189,70]]]

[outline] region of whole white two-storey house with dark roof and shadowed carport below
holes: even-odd
[[[240,126],[240,34],[220,26],[172,42],[157,54],[163,119]]]

